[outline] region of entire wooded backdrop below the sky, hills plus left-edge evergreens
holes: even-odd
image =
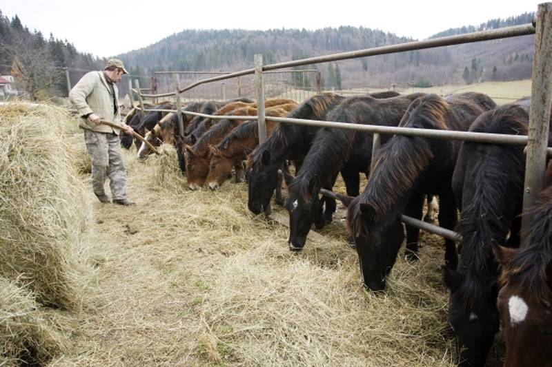
[[[437,33],[431,38],[531,23],[534,13],[508,19],[491,19],[479,26],[467,25]],[[234,72],[253,67],[253,56],[264,63],[374,48],[413,41],[395,34],[342,26],[321,30],[184,30],[117,57],[135,76],[152,76],[161,70]],[[309,65],[322,72],[326,90],[358,87],[388,87],[511,81],[531,78],[534,36],[484,41],[466,45],[401,52],[369,58]],[[0,10],[0,72],[15,74],[33,98],[64,96],[67,85],[64,67],[75,83],[88,70],[101,70],[105,59],[75,50],[69,41],[46,39],[31,32],[19,17],[3,16]],[[306,81],[295,80],[300,86]],[[126,90],[121,85],[121,90]]]

